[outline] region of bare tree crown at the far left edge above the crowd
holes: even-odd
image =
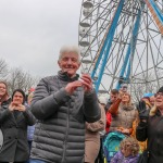
[[[4,79],[8,76],[8,64],[3,59],[0,59],[0,79]]]

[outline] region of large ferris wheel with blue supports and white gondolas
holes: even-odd
[[[163,0],[83,0],[82,71],[97,92],[153,91],[163,85]]]

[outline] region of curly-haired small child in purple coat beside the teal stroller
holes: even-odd
[[[122,140],[120,151],[113,156],[111,163],[137,163],[139,145],[135,138],[127,137]]]

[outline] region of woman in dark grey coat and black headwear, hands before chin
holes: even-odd
[[[1,163],[25,163],[29,158],[27,126],[35,124],[35,117],[24,102],[24,91],[16,89],[11,103],[0,109],[0,126],[3,133]]]

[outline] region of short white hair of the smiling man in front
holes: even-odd
[[[59,61],[62,59],[63,53],[73,52],[78,57],[78,62],[80,62],[80,50],[77,46],[63,46],[60,49]]]

